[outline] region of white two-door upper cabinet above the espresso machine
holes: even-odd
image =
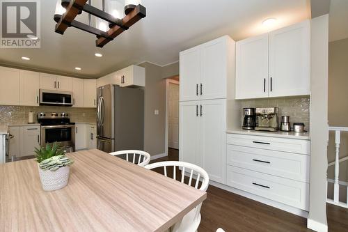
[[[237,42],[236,99],[310,94],[308,20]]]

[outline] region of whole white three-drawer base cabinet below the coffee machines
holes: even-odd
[[[227,134],[226,185],[308,211],[310,141]]]

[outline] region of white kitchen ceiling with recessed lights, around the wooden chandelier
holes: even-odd
[[[1,49],[0,63],[101,77],[141,61],[173,63],[180,51],[226,34],[241,40],[310,18],[309,0],[143,0],[147,16],[100,49],[95,36],[84,31],[55,33],[55,6],[55,0],[41,1],[41,48]],[[261,24],[268,17],[278,19],[273,28]],[[86,22],[86,15],[79,20]],[[104,56],[98,59],[95,52]],[[82,70],[74,70],[77,66]]]

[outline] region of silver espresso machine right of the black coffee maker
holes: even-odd
[[[278,107],[256,108],[255,130],[278,131]]]

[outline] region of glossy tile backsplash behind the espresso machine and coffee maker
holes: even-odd
[[[242,108],[247,107],[278,107],[279,123],[281,116],[290,116],[290,123],[304,123],[305,129],[309,130],[309,97],[287,97],[287,98],[267,98],[240,100]],[[244,116],[242,116],[243,121]],[[242,123],[241,123],[242,125]]]

